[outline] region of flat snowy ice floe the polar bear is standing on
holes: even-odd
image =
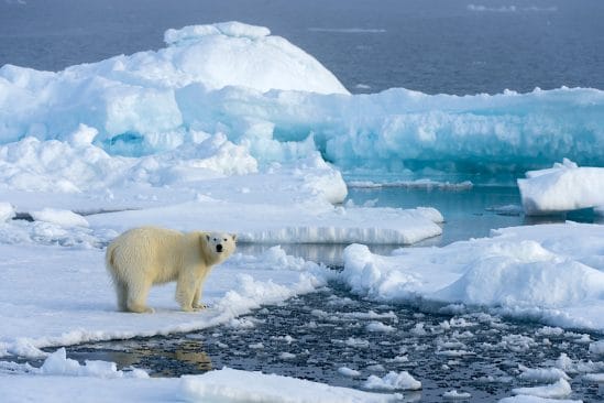
[[[195,315],[179,312],[175,286],[168,284],[150,294],[155,314],[133,315],[117,312],[100,249],[0,244],[0,356],[44,357],[44,347],[201,329],[229,323],[262,304],[311,292],[329,277],[321,274],[326,269],[310,262],[300,272],[299,263],[293,270],[275,268],[270,257],[266,269],[227,261],[206,283],[209,309]]]

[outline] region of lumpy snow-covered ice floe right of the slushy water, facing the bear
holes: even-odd
[[[604,227],[513,227],[443,248],[344,250],[340,280],[376,301],[482,306],[549,325],[602,330]]]

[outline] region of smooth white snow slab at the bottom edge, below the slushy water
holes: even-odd
[[[189,402],[361,403],[394,402],[399,397],[229,368],[202,375],[185,375],[180,380],[180,391]]]

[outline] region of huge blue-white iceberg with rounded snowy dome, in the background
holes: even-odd
[[[604,164],[604,91],[350,95],[319,62],[237,22],[165,33],[166,47],[65,70],[0,68],[0,143],[76,135],[149,155],[222,133],[261,164],[319,151],[341,170],[520,173]],[[91,133],[96,134],[91,135]]]

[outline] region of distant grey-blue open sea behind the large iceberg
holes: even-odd
[[[229,20],[268,26],[352,92],[604,89],[601,0],[0,0],[0,66],[58,70]]]

